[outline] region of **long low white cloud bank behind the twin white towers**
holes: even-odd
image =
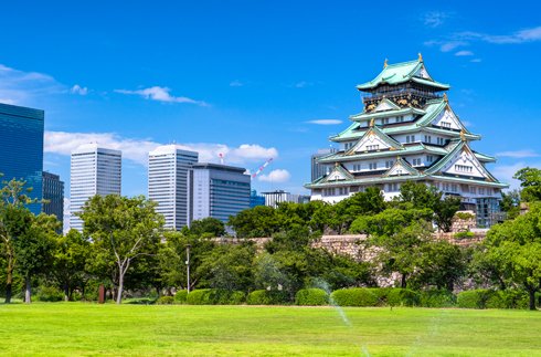
[[[71,155],[71,151],[78,146],[96,141],[121,150],[123,158],[141,165],[147,165],[148,153],[161,145],[151,138],[125,138],[115,133],[45,132],[44,146],[45,153]],[[183,146],[187,150],[198,151],[201,162],[219,162],[220,154],[223,155],[225,162],[231,165],[244,165],[278,157],[278,150],[274,147],[264,148],[259,145],[243,144],[238,147],[229,147],[223,144],[190,143]]]

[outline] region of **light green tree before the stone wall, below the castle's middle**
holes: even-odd
[[[365,249],[375,248],[375,264],[385,273],[402,275],[402,287],[420,263],[420,249],[432,240],[432,217],[429,209],[413,209],[412,204],[390,208],[375,216],[359,217],[352,224],[354,233],[365,233],[368,239],[360,242]]]

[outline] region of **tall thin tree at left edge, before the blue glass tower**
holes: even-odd
[[[32,188],[24,188],[26,181],[13,179],[9,182],[2,181],[2,185],[0,190],[0,242],[8,261],[6,303],[9,304],[12,294],[13,271],[17,264],[13,238],[23,234],[32,224],[30,216],[24,212],[24,204],[35,203],[38,200],[28,197],[26,193],[30,193]]]

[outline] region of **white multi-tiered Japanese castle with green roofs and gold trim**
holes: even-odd
[[[328,174],[305,183],[311,199],[338,202],[378,186],[389,200],[412,180],[459,196],[462,210],[478,211],[481,201],[498,206],[501,189],[509,185],[486,168],[496,157],[471,149],[481,135],[470,133],[455,114],[445,94],[449,88],[433,80],[421,54],[399,64],[385,60],[375,78],[357,86],[362,113],[329,137],[339,150],[317,160]]]

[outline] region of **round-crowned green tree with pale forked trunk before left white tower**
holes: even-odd
[[[96,195],[77,213],[83,220],[84,234],[106,253],[105,258],[114,258],[118,272],[117,304],[121,303],[124,277],[131,262],[157,253],[166,221],[156,212],[156,206],[145,196]]]

